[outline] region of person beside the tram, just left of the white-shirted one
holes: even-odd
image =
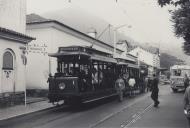
[[[123,91],[125,89],[125,82],[122,79],[121,75],[119,75],[119,78],[115,82],[115,88],[119,97],[119,101],[123,101]]]

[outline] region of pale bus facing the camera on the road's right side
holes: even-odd
[[[190,66],[188,65],[174,65],[170,67],[170,85],[173,92],[178,90],[185,90],[184,76],[190,76]]]

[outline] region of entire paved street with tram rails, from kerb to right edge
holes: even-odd
[[[185,128],[183,93],[162,86],[160,108],[152,107],[150,93],[125,99],[96,102],[80,109],[63,108],[0,122],[0,128]]]

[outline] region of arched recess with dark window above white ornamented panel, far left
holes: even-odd
[[[15,54],[11,49],[6,49],[3,53],[3,67],[2,67],[2,91],[15,91]]]

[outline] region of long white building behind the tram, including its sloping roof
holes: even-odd
[[[91,46],[98,50],[113,53],[113,46],[77,31],[56,20],[48,20],[36,14],[27,16],[27,34],[36,37],[27,48],[27,89],[48,89],[48,75],[56,72],[56,59],[48,53],[55,53],[58,47],[79,45]],[[117,53],[121,54],[121,50]],[[49,68],[51,65],[51,69]]]

